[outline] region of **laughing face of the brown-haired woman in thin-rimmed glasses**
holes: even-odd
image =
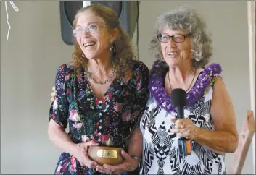
[[[75,38],[87,59],[110,56],[110,44],[115,40],[115,35],[110,33],[102,17],[86,10],[78,15],[75,29],[82,31],[82,35]]]

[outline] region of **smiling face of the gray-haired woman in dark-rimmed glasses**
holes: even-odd
[[[183,35],[189,33],[186,30],[170,30],[169,27],[165,27],[161,34],[168,36],[176,35],[176,40],[179,42],[183,40]],[[169,66],[182,64],[184,61],[191,59],[191,38],[185,37],[183,42],[180,43],[170,38],[167,43],[161,43],[161,50],[163,59],[165,59]]]

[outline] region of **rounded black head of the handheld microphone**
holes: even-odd
[[[174,89],[170,93],[170,100],[174,106],[183,107],[186,106],[186,92],[183,89]]]

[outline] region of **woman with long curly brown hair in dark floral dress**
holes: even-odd
[[[49,138],[62,150],[55,174],[134,174],[142,153],[139,121],[149,69],[133,60],[131,40],[112,9],[80,9],[73,27],[73,63],[57,69],[49,112]],[[90,145],[107,142],[125,148],[119,166],[99,166],[88,158]]]

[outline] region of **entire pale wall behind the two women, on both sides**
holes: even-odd
[[[62,42],[58,1],[15,4],[20,11],[9,5],[12,29],[7,41],[1,1],[1,174],[53,174],[59,151],[47,136],[49,93],[57,67],[71,60],[73,46]],[[247,2],[141,1],[139,54],[147,66],[154,60],[148,46],[157,16],[181,4],[195,7],[207,21],[214,39],[212,61],[223,67],[240,131],[250,108]],[[226,156],[227,166],[231,156]],[[252,174],[252,164],[251,147],[243,174]]]

